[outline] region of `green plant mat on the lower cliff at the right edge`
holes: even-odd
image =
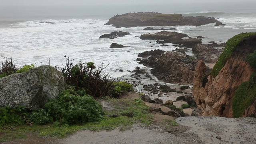
[[[248,106],[256,100],[256,73],[250,76],[248,82],[243,82],[235,92],[232,99],[234,118],[242,117]]]

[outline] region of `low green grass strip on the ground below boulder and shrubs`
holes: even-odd
[[[121,100],[110,98],[106,100],[111,110],[106,109],[105,115],[101,121],[87,122],[80,125],[57,123],[46,125],[20,125],[20,126],[1,126],[0,127],[0,142],[5,142],[14,139],[27,138],[29,134],[36,133],[38,137],[57,137],[64,138],[78,130],[126,130],[132,124],[142,123],[145,125],[152,124],[153,116],[150,114],[150,108],[144,102],[136,102],[135,100]],[[114,117],[113,115],[118,115]],[[172,124],[173,125],[173,124]]]

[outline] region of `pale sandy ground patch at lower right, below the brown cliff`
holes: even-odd
[[[198,135],[206,144],[256,143],[256,118],[200,116],[182,117],[176,122],[189,126],[188,132]]]

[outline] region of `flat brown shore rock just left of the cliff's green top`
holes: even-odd
[[[204,60],[204,62],[216,62],[218,57],[223,52],[226,43],[222,44],[198,44],[192,48],[192,52],[195,54],[198,60]]]

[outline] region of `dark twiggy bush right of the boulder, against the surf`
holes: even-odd
[[[66,66],[61,69],[66,82],[70,86],[75,86],[76,90],[84,90],[87,94],[94,97],[104,96],[120,96],[127,91],[133,91],[137,86],[134,83],[123,81],[121,79],[114,80],[109,74],[104,72],[108,66],[102,66],[95,69],[94,62],[78,62],[73,65],[74,60],[66,58]]]

